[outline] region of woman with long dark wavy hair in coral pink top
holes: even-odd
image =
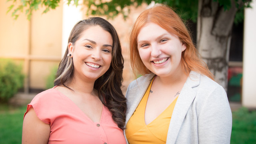
[[[79,21],[54,87],[27,106],[22,144],[124,144],[123,64],[118,34],[108,21]]]

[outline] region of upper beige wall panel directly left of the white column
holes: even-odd
[[[31,54],[36,56],[61,56],[62,5],[42,14],[34,12],[31,18]]]

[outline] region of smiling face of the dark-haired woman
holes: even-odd
[[[113,40],[100,26],[90,26],[73,45],[69,43],[74,63],[74,78],[96,80],[110,67]]]

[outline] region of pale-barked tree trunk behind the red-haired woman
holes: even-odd
[[[198,0],[197,46],[204,62],[214,74],[214,80],[227,91],[228,59],[232,25],[237,11],[224,10],[214,0]]]

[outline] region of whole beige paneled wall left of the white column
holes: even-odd
[[[17,20],[6,14],[11,2],[0,1],[0,58],[20,60],[26,74],[25,91],[45,89],[46,77],[61,59],[62,4],[56,10],[33,13],[28,21],[24,13]]]

